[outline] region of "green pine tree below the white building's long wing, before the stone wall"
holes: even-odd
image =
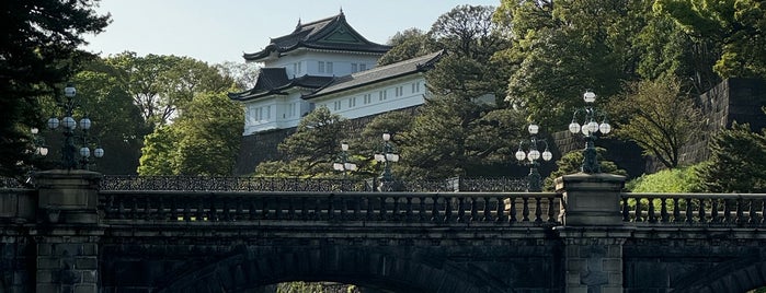
[[[348,122],[322,106],[306,115],[296,132],[287,137],[277,150],[282,162],[264,162],[255,167],[255,175],[285,177],[333,176],[332,163],[340,153],[341,142],[347,139]]]

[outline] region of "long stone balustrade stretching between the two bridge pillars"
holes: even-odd
[[[101,191],[107,221],[336,221],[558,225],[560,195],[438,192]]]

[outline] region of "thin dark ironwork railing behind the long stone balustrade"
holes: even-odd
[[[318,179],[205,176],[104,176],[101,190],[210,190],[210,191],[377,191],[377,178]],[[444,180],[399,180],[397,191],[496,191],[522,192],[524,178],[449,178]]]

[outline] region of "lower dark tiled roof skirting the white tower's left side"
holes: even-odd
[[[320,89],[333,80],[331,77],[302,75],[300,78],[288,79],[285,68],[262,68],[258,74],[255,86],[249,91],[240,93],[229,93],[229,98],[237,101],[248,101],[259,97],[284,94],[290,87]]]

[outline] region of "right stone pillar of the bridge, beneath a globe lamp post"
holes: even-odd
[[[622,226],[619,192],[625,176],[572,174],[556,179],[563,195],[563,226],[556,227],[567,246],[569,293],[622,292],[622,244],[632,230]]]

